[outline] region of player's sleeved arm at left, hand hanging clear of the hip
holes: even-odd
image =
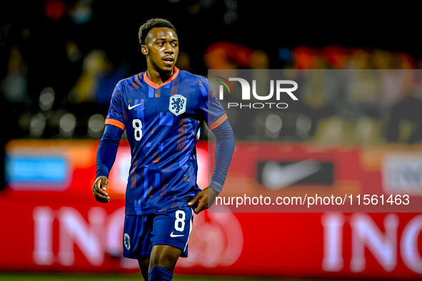
[[[106,118],[106,128],[99,143],[96,153],[96,180],[92,187],[94,197],[100,203],[109,203],[110,198],[106,193],[109,183],[109,173],[116,160],[117,148],[124,131],[123,107],[120,82],[114,88],[111,96],[109,115]]]

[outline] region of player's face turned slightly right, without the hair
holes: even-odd
[[[179,40],[176,33],[166,27],[151,29],[142,52],[157,71],[171,71],[179,55]]]

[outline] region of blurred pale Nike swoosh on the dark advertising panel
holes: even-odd
[[[322,169],[322,164],[308,159],[297,163],[280,166],[277,162],[267,162],[262,169],[262,183],[268,189],[280,190],[297,183]]]

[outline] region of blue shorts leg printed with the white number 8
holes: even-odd
[[[188,255],[189,235],[193,228],[194,211],[189,207],[175,208],[157,213],[151,235],[152,246],[167,245],[181,250],[181,257]]]

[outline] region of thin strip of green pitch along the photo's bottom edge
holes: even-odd
[[[1,281],[141,281],[141,274],[56,274],[56,273],[1,273]],[[292,279],[292,278],[252,278],[252,277],[206,277],[206,276],[176,276],[174,281],[318,281],[317,279]],[[322,280],[319,280],[322,281]],[[331,280],[335,281],[335,280]],[[346,281],[346,280],[343,280]]]

